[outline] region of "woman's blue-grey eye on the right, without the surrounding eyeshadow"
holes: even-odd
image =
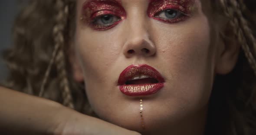
[[[162,19],[176,19],[184,16],[185,14],[178,10],[163,10],[159,12],[155,17]]]

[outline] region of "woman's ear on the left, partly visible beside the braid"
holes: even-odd
[[[73,46],[73,45],[71,45]],[[72,67],[73,78],[75,81],[82,83],[84,81],[82,67],[79,64],[78,59],[75,57],[74,47],[69,48],[69,63]]]

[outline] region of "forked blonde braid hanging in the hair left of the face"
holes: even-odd
[[[57,11],[56,24],[53,26],[53,37],[55,42],[55,47],[53,50],[52,58],[46,70],[45,77],[40,89],[39,96],[43,96],[44,87],[49,78],[49,73],[56,64],[57,67],[57,77],[59,79],[59,88],[61,90],[62,104],[70,108],[74,108],[72,94],[69,88],[69,81],[66,73],[66,59],[64,56],[64,30],[66,29],[67,19],[69,16],[68,5],[65,4],[63,0],[57,0],[55,3],[55,8]]]

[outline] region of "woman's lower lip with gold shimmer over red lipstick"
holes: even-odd
[[[128,84],[119,86],[119,89],[128,96],[147,96],[158,92],[162,87],[164,87],[164,83]]]

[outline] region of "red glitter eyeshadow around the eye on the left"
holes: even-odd
[[[112,15],[120,18],[117,22],[109,26],[92,24],[93,20],[99,16]],[[126,18],[125,9],[121,6],[121,0],[88,0],[82,7],[82,18],[86,24],[95,30],[107,30]]]

